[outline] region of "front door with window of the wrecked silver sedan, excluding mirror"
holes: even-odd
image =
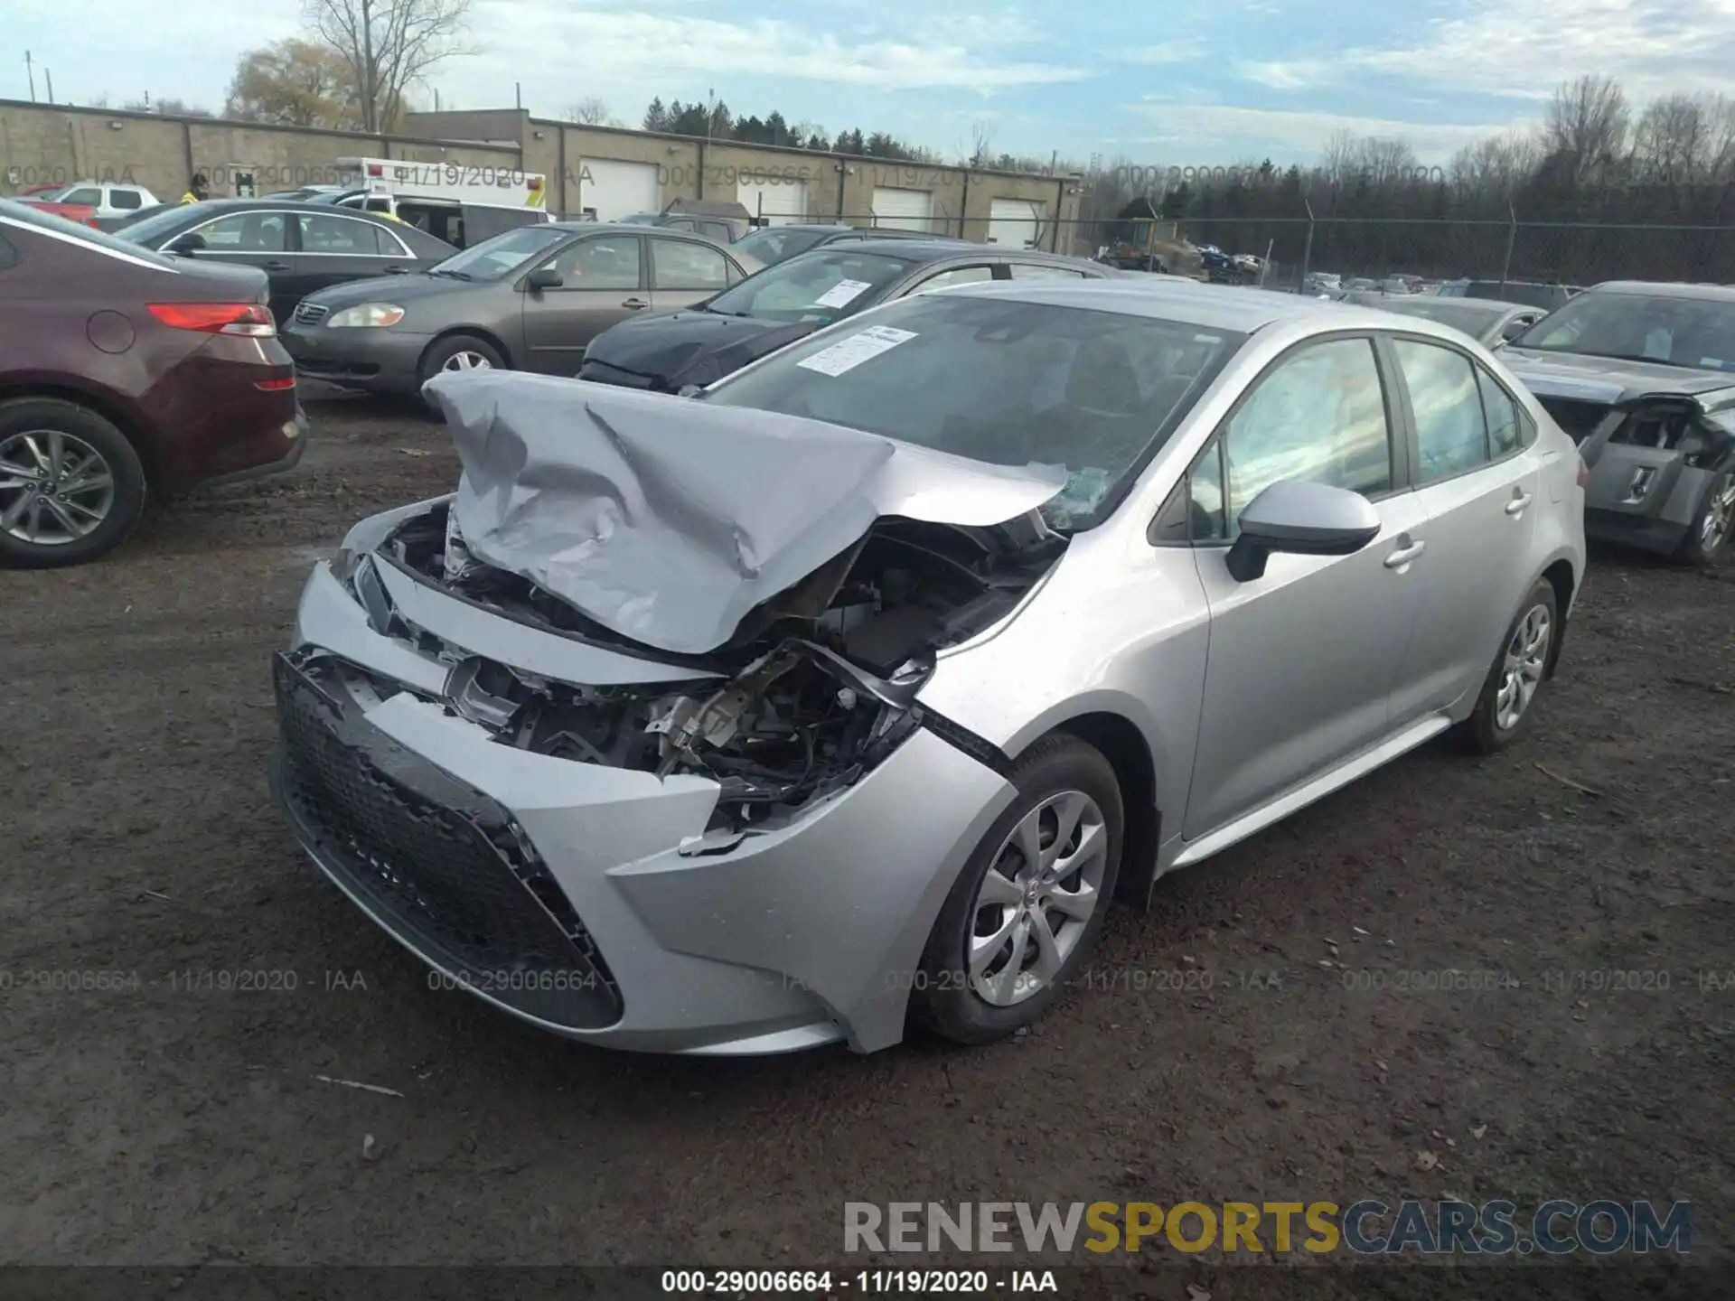
[[[1192,470],[1194,557],[1211,611],[1204,704],[1183,834],[1195,840],[1388,732],[1416,618],[1426,513],[1393,453],[1397,408],[1374,343],[1301,345],[1268,369]],[[1379,534],[1353,555],[1272,555],[1239,583],[1228,543],[1265,487],[1305,479],[1362,493]]]

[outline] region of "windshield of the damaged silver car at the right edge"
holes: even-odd
[[[1735,300],[1581,293],[1530,326],[1513,345],[1735,371]]]

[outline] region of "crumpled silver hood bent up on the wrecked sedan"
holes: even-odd
[[[751,408],[512,371],[442,373],[468,552],[612,631],[704,654],[881,515],[991,526],[1065,468],[963,456]]]

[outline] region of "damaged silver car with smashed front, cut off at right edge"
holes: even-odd
[[[1735,533],[1735,290],[1598,284],[1501,359],[1591,467],[1593,538],[1716,560]]]

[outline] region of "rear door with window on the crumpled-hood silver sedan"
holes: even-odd
[[[1416,498],[1421,604],[1391,694],[1393,723],[1445,709],[1487,678],[1535,572],[1537,430],[1468,350],[1381,340],[1402,399]]]

